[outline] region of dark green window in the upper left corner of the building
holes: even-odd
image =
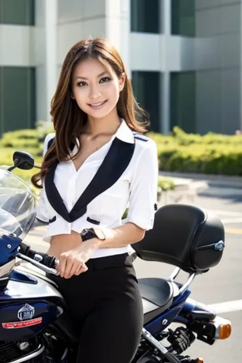
[[[34,0],[0,0],[0,23],[34,25]]]

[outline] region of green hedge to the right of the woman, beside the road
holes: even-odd
[[[242,176],[242,135],[148,134],[157,143],[161,171]]]

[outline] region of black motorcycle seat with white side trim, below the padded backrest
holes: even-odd
[[[174,296],[179,294],[178,286],[171,281],[159,278],[138,279],[142,296],[144,324],[148,324],[168,309]]]

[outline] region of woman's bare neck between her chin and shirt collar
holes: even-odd
[[[86,133],[92,137],[99,134],[114,134],[120,125],[120,118],[117,111],[111,111],[107,116],[103,118],[94,118],[88,116]]]

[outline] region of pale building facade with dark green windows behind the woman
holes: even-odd
[[[0,133],[50,120],[68,49],[104,36],[151,130],[242,129],[241,0],[0,0]]]

